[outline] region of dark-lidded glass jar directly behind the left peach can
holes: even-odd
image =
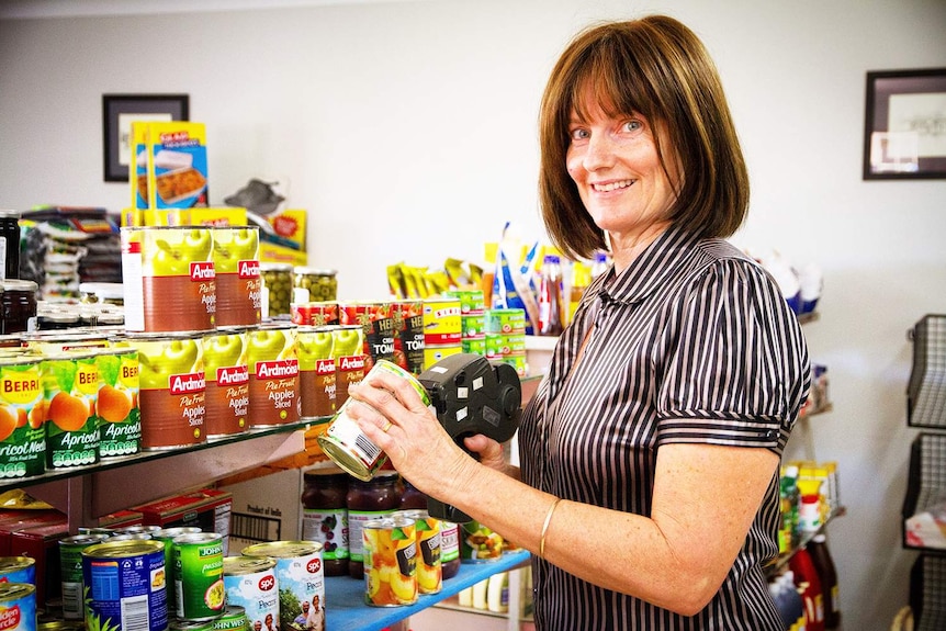
[[[401,507],[396,472],[382,471],[368,482],[348,478],[348,575],[364,579],[361,531],[365,521],[387,517]]]

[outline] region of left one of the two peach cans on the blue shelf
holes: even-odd
[[[373,607],[417,601],[417,540],[413,519],[388,517],[367,521],[361,530],[364,549],[364,602]]]

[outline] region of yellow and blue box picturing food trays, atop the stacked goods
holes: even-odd
[[[133,209],[207,205],[207,139],[203,123],[132,123]]]

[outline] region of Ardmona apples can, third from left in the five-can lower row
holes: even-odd
[[[264,325],[247,334],[249,426],[273,427],[296,422],[299,357],[295,326]]]

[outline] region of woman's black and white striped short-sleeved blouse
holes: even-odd
[[[801,327],[772,277],[727,241],[671,228],[620,275],[610,271],[586,291],[523,415],[522,478],[573,502],[647,516],[662,444],[780,455],[809,385]],[[691,618],[537,557],[537,628],[779,630],[762,571],[778,553],[778,521],[775,475],[720,591]]]

